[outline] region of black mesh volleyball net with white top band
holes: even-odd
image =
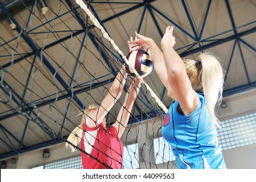
[[[47,1],[45,16],[40,14],[38,1],[15,16],[3,6],[17,27],[10,40],[1,34],[1,52],[6,55],[1,57],[1,120],[16,117],[14,124],[27,121],[26,128],[31,133],[21,136],[16,148],[23,148],[22,142],[31,136],[40,141],[68,142],[67,136],[80,125],[82,116],[77,114],[91,104],[100,105],[120,68],[125,62],[129,64],[89,5],[80,0],[76,3],[79,6],[71,1]],[[121,137],[125,148],[122,166],[175,168],[170,145],[161,136],[167,109],[141,80]],[[132,81],[133,77],[128,76],[124,92]],[[124,96],[125,93],[108,112],[107,126],[116,121]],[[3,134],[0,137],[5,140]],[[86,153],[80,144],[72,145]]]

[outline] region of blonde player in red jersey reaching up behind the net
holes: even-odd
[[[133,38],[131,38],[131,41],[133,41]],[[131,46],[129,44],[129,51],[136,49],[136,47],[131,48]],[[134,77],[131,86],[129,86],[116,122],[108,129],[106,129],[105,116],[120,98],[126,79],[127,73],[125,72],[125,66],[123,66],[116,75],[108,94],[101,101],[101,105],[89,105],[88,109],[81,113],[83,114],[81,124],[72,131],[67,139],[75,146],[82,141],[81,156],[85,169],[122,168],[123,142],[120,138],[140,90],[140,80],[137,77]],[[66,146],[75,151],[71,144],[66,143]]]

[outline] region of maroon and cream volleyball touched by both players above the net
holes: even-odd
[[[140,49],[131,51],[126,56],[126,59],[129,61],[129,65],[125,64],[125,70],[133,77],[135,77],[135,73],[133,72],[133,69],[130,68],[131,66],[135,68],[138,75],[142,78],[149,75],[153,70],[152,59],[146,51]]]

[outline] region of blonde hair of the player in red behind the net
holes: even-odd
[[[74,152],[76,151],[76,148],[74,148],[74,146],[78,146],[81,142],[82,136],[83,136],[83,131],[84,131],[84,123],[86,122],[86,115],[88,115],[88,113],[91,110],[95,110],[97,108],[96,105],[89,105],[88,109],[84,110],[84,112],[80,111],[77,116],[80,116],[81,114],[83,114],[82,119],[81,119],[81,123],[80,125],[78,125],[69,135],[69,137],[67,138],[67,141],[71,142],[71,144],[69,144],[68,142],[66,142],[66,148],[71,148],[71,151]],[[72,144],[74,146],[72,146]]]

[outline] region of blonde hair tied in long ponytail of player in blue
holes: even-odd
[[[221,103],[223,92],[223,69],[219,59],[211,53],[200,53],[198,59],[186,59],[185,67],[193,90],[202,92],[212,122],[219,126],[214,108]]]

